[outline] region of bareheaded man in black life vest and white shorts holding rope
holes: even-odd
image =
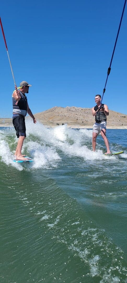
[[[107,152],[106,154],[111,153],[109,148],[109,142],[106,137],[106,116],[109,115],[108,106],[106,104],[100,104],[101,102],[101,96],[96,95],[95,96],[95,102],[97,105],[92,108],[92,115],[95,116],[95,124],[93,125],[93,139],[92,139],[92,145],[93,145],[93,151],[95,151],[96,148],[96,138],[98,134],[101,134],[102,138],[104,139]]]

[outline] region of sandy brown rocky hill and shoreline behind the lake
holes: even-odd
[[[34,114],[37,121],[48,127],[65,124],[72,128],[92,128],[95,117],[91,108],[81,107],[53,107],[46,111]],[[27,119],[27,118],[26,118]],[[12,126],[12,118],[1,118],[0,127]],[[127,129],[127,115],[109,110],[107,128]]]

